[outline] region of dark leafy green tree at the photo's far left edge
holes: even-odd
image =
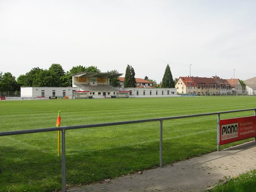
[[[1,91],[16,91],[19,90],[15,76],[7,72],[2,75],[1,72]]]

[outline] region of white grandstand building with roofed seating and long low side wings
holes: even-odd
[[[111,86],[110,78],[118,78],[121,75],[123,74],[76,73],[72,75],[72,87],[21,87],[21,97],[24,99],[26,97],[32,99],[93,99],[177,96],[176,88],[154,88],[150,85],[135,88]]]

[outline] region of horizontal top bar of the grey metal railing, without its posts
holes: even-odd
[[[222,112],[214,112],[214,113],[201,113],[201,114],[192,114],[192,115],[183,115],[183,116],[173,116],[173,117],[160,117],[160,118],[154,118],[154,119],[141,119],[141,120],[132,120],[132,121],[110,122],[110,123],[96,123],[96,124],[88,124],[88,125],[60,126],[60,127],[40,128],[40,129],[32,129],[32,130],[6,131],[6,132],[0,132],[0,136],[41,133],[41,132],[49,132],[49,131],[61,131],[64,129],[72,130],[72,129],[93,128],[93,127],[101,127],[101,126],[126,125],[126,124],[133,124],[133,123],[145,123],[145,122],[171,120],[171,119],[183,119],[183,118],[189,118],[189,117],[200,117],[200,116],[209,116],[209,115],[224,114],[224,113],[236,113],[236,112],[243,112],[243,111],[255,111],[255,110],[256,108],[233,110],[233,111],[222,111]]]

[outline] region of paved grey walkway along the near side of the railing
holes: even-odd
[[[256,142],[67,191],[204,191],[224,176],[235,177],[251,169],[256,169]]]

